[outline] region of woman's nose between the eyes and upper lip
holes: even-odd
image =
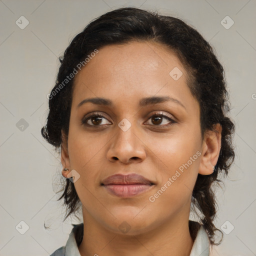
[[[110,146],[106,155],[109,161],[120,161],[121,163],[128,164],[131,162],[141,162],[145,159],[145,144],[138,132],[135,131],[134,126],[135,124],[124,131],[116,125],[116,133],[110,140]]]

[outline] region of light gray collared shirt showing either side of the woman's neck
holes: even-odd
[[[67,239],[66,245],[55,250],[50,256],[81,256],[77,243],[82,240],[83,223],[75,225]],[[77,237],[75,239],[75,237]],[[199,228],[189,256],[209,256],[209,239],[203,226]]]

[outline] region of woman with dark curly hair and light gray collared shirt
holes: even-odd
[[[81,207],[83,223],[51,255],[209,255],[234,124],[208,42],[126,7],[90,22],[60,62],[41,133],[61,148],[65,219]]]

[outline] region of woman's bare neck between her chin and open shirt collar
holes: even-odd
[[[127,235],[109,231],[83,214],[83,239],[78,249],[81,256],[189,256],[193,240],[186,217],[186,221],[177,216],[150,231]]]

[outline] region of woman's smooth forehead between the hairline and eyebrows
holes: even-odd
[[[182,75],[175,80],[170,75],[172,70]],[[157,94],[192,97],[186,85],[186,70],[167,46],[130,42],[104,46],[91,57],[75,76],[73,102],[78,104],[86,97],[132,102],[141,95]]]

